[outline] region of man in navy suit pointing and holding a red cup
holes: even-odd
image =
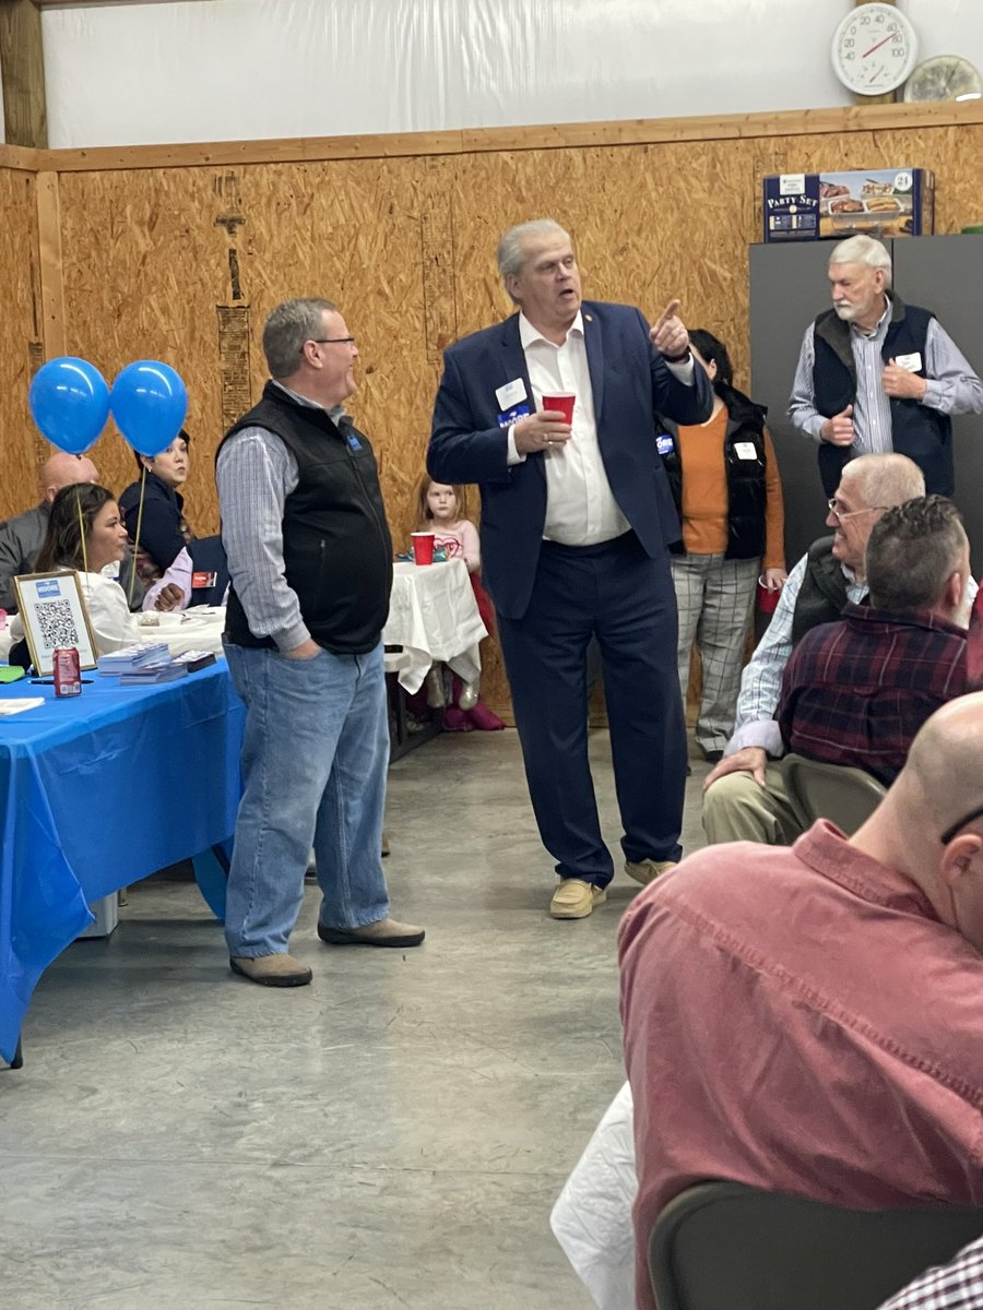
[[[485,584],[561,879],[550,913],[585,918],[613,876],[587,760],[592,637],[625,871],[647,883],[680,854],[687,744],[666,549],[680,529],[653,415],[701,423],[713,393],[679,301],[653,329],[628,305],[582,303],[570,237],[552,219],[506,232],[498,267],[519,313],[447,350],[427,469],[481,487]],[[568,422],[557,403],[570,394]]]

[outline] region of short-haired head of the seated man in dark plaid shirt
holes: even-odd
[[[904,613],[932,609],[959,569],[966,531],[959,511],[944,495],[896,504],[870,529],[866,584],[878,609]]]

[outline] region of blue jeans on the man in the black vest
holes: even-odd
[[[287,950],[315,848],[320,918],[385,918],[380,863],[389,726],[381,642],[368,655],[292,660],[227,643],[245,701],[242,800],[228,879],[225,941],[235,956]]]

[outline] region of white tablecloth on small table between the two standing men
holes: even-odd
[[[431,664],[443,663],[465,683],[481,672],[478,642],[488,637],[463,559],[436,565],[393,566],[387,646],[402,646],[396,669],[400,685],[418,692]]]

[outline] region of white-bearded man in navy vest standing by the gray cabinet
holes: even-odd
[[[983,383],[929,309],[891,286],[891,257],[873,237],[830,255],[832,309],[802,341],[789,418],[818,443],[832,495],[847,460],[896,451],[921,469],[925,490],[954,487],[950,414],[983,413]]]

